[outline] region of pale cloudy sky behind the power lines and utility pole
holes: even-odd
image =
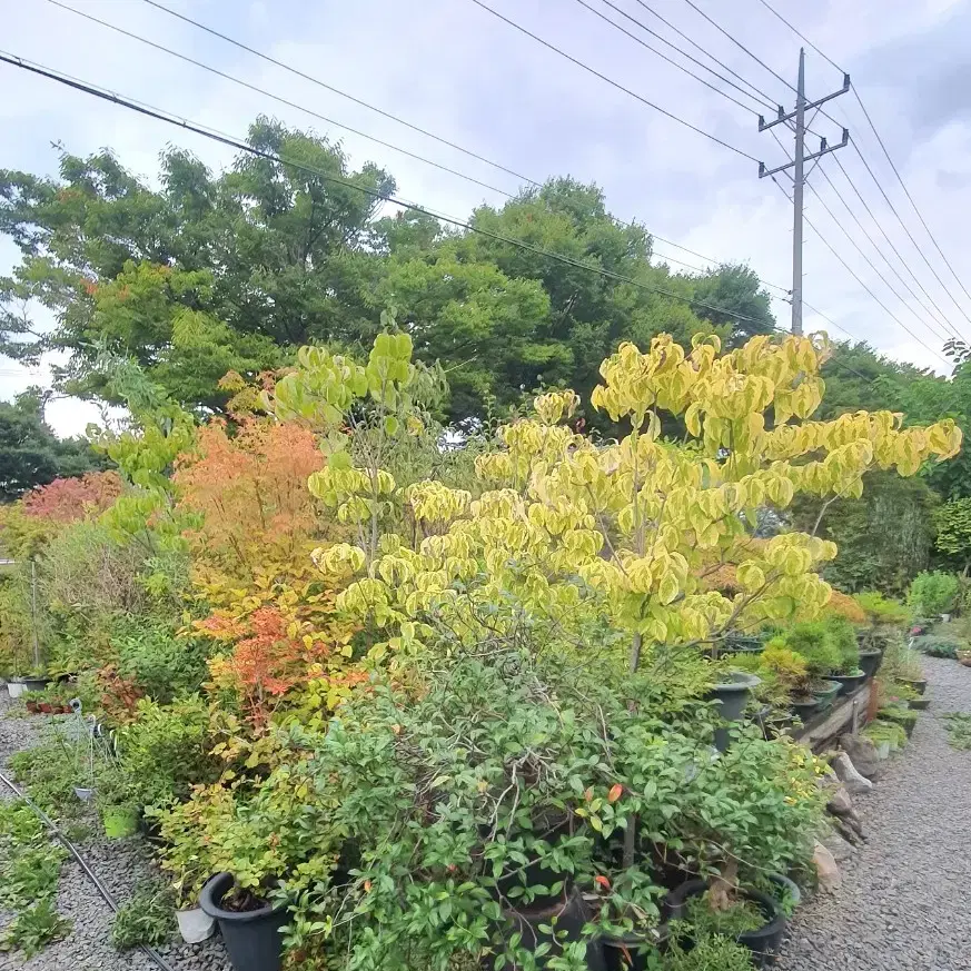
[[[355,167],[371,160],[392,171],[399,197],[449,216],[466,218],[483,201],[502,205],[502,192],[519,188],[519,180],[507,172],[261,61],[145,0],[63,2],[265,88],[335,123],[86,21],[51,0],[0,0],[0,22],[4,26],[0,49],[237,138],[245,136],[259,113],[311,128],[339,140]],[[484,2],[737,151],[601,80],[474,0],[162,2],[528,179],[571,175],[596,182],[616,217],[636,219],[656,236],[715,261],[747,262],[763,280],[783,289],[791,286],[792,208],[780,188],[770,179],[760,179],[756,162],[745,157],[764,161],[769,168],[785,160],[783,148],[770,133],[757,130],[757,111],[772,112],[673,52],[606,0]],[[967,57],[971,0],[770,2],[851,73],[918,208],[958,276],[971,289],[971,238],[965,230],[965,214],[971,211],[971,62]],[[801,41],[763,0],[610,3],[735,83],[741,76],[767,103],[792,109],[793,91],[772,71],[795,82]],[[690,67],[745,107],[666,63],[588,8]],[[672,28],[697,47],[690,47]],[[716,67],[702,50],[735,73]],[[839,70],[807,49],[810,99],[839,90],[842,81]],[[216,170],[232,160],[231,150],[201,136],[7,65],[0,65],[0,168],[56,175],[57,145],[77,155],[110,147],[126,167],[149,184],[156,181],[158,156],[167,146],[185,147]],[[849,333],[891,357],[943,371],[940,354],[944,337],[971,336],[971,298],[930,241],[853,93],[834,99],[825,110],[833,120],[818,117],[813,131],[833,143],[846,125],[860,153],[852,146],[841,149],[824,158],[809,179],[805,212],[812,227],[806,226],[804,232],[804,297],[843,330],[810,309],[805,311],[805,328],[826,329],[840,338]],[[791,149],[791,133],[783,127],[774,130]],[[426,156],[502,192],[443,172],[364,135]],[[811,137],[807,150],[818,147],[818,139]],[[868,174],[861,155],[914,241]],[[779,178],[787,189],[784,177]],[[694,267],[712,265],[660,240],[655,250],[658,261],[668,256]],[[8,274],[18,259],[12,242],[0,237],[0,275]],[[684,267],[672,262],[672,269]],[[776,299],[773,309],[780,325],[789,326],[789,305]],[[42,315],[39,320],[47,326],[52,323],[44,321]],[[30,384],[47,382],[47,363],[28,371],[0,358],[0,399]],[[47,414],[62,435],[80,433],[87,422],[98,417],[92,405],[73,399],[55,400]]]

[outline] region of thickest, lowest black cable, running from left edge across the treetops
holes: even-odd
[[[121,108],[126,108],[131,111],[136,111],[139,115],[147,116],[149,118],[153,118],[158,121],[164,121],[167,125],[175,125],[179,128],[185,129],[186,131],[191,131],[195,135],[201,135],[204,138],[208,138],[212,141],[218,141],[221,145],[225,145],[229,148],[237,149],[238,151],[247,152],[248,155],[256,156],[258,158],[266,159],[267,161],[275,162],[277,165],[288,166],[291,169],[297,169],[308,175],[311,175],[316,178],[319,178],[321,181],[331,182],[333,185],[343,186],[347,189],[354,189],[358,192],[363,192],[370,198],[380,201],[380,202],[390,202],[395,206],[399,206],[403,209],[407,209],[412,212],[417,212],[423,216],[432,216],[433,218],[440,219],[444,222],[448,222],[452,226],[455,226],[459,229],[465,229],[468,232],[475,232],[479,236],[485,236],[489,239],[494,239],[498,242],[504,242],[509,246],[515,246],[519,249],[528,250],[529,252],[534,252],[537,256],[543,256],[548,259],[556,260],[558,262],[563,262],[567,266],[576,267],[577,269],[585,269],[591,273],[595,273],[598,276],[605,277],[607,279],[616,280],[618,283],[630,284],[637,289],[644,290],[645,293],[656,294],[658,296],[667,297],[673,300],[680,300],[688,306],[701,307],[706,310],[711,310],[716,314],[723,314],[726,317],[733,318],[737,321],[749,321],[752,324],[764,325],[763,320],[759,320],[755,317],[751,317],[746,314],[740,314],[735,310],[730,310],[724,307],[715,307],[712,304],[707,304],[704,300],[696,300],[691,297],[685,297],[681,294],[674,293],[673,290],[666,290],[662,287],[651,286],[650,284],[641,283],[640,280],[635,280],[632,277],[626,277],[623,274],[614,273],[613,270],[604,269],[603,267],[593,266],[587,262],[582,262],[581,260],[574,259],[565,254],[554,252],[547,249],[544,249],[538,246],[534,246],[531,242],[526,242],[524,239],[516,239],[513,237],[503,236],[498,232],[493,232],[488,229],[483,229],[479,226],[475,226],[474,224],[466,222],[463,219],[456,219],[452,216],[446,216],[444,214],[436,214],[425,207],[417,206],[414,202],[408,202],[404,199],[399,199],[389,194],[383,194],[377,191],[376,189],[369,189],[366,186],[359,186],[356,182],[348,181],[347,179],[338,178],[337,176],[329,175],[324,172],[313,166],[307,165],[306,162],[297,161],[295,159],[289,159],[284,156],[265,151],[259,148],[255,148],[251,145],[247,145],[244,141],[240,141],[225,132],[217,131],[216,129],[205,128],[200,125],[195,125],[191,121],[188,121],[184,118],[178,118],[172,116],[160,108],[155,108],[151,105],[146,105],[145,102],[135,101],[129,98],[123,98],[120,95],[116,95],[111,91],[108,91],[103,88],[99,88],[95,85],[90,85],[87,81],[82,81],[77,78],[72,78],[69,75],[65,75],[60,71],[56,71],[52,68],[47,68],[42,65],[34,63],[32,61],[27,60],[26,58],[18,57],[17,55],[7,53],[4,51],[0,51],[0,61],[6,62],[8,65],[12,65],[16,68],[20,68],[21,70],[29,71],[34,75],[39,75],[40,77],[48,78],[49,80],[57,81],[60,85],[63,85],[68,88],[72,88],[77,91],[80,91],[85,95],[90,95],[95,98],[98,98],[102,101],[110,101],[113,105],[118,105]]]

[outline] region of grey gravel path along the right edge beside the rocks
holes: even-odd
[[[780,971],[971,971],[971,752],[940,715],[971,712],[971,668],[924,658],[931,709],[872,793],[843,884],[796,912]]]

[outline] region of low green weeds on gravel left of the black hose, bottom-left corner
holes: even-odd
[[[55,909],[66,856],[23,801],[0,802],[0,908],[13,914],[0,950],[19,949],[30,959],[70,930]]]

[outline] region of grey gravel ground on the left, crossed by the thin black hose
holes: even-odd
[[[0,765],[14,752],[28,749],[37,737],[46,715],[7,717],[11,709],[6,687],[0,690]],[[8,773],[9,774],[9,773]],[[11,797],[0,783],[0,799]],[[92,826],[92,829],[95,829]],[[100,829],[95,830],[101,833]],[[139,880],[157,876],[148,846],[140,838],[107,840],[93,836],[78,845],[81,856],[98,874],[115,900],[121,904]],[[119,954],[111,947],[112,913],[90,879],[73,858],[61,869],[58,911],[73,921],[71,933],[48,944],[39,954],[24,960],[22,954],[0,953],[0,971],[149,971],[157,964],[139,950]],[[6,923],[0,914],[0,927]],[[186,944],[174,931],[168,947],[158,949],[172,971],[230,971],[221,941],[212,938],[202,944]]]

